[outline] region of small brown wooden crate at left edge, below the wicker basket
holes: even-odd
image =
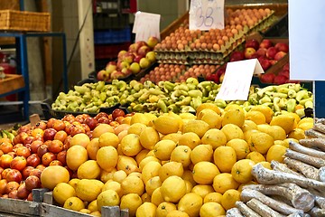
[[[0,94],[4,94],[13,90],[24,87],[22,75],[6,74],[5,79],[0,80]]]

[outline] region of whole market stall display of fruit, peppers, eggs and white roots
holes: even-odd
[[[325,119],[289,80],[288,39],[263,35],[286,8],[230,5],[224,32],[184,14],[44,101],[46,119],[2,129],[0,212],[325,216]],[[227,63],[252,58],[247,100],[216,99]]]

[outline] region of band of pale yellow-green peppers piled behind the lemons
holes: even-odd
[[[129,83],[113,80],[112,84],[99,81],[75,86],[74,90],[67,94],[60,92],[51,109],[98,113],[100,108],[112,107],[119,103],[126,106],[130,112],[160,115],[169,111],[177,114],[195,112],[200,104],[210,102],[220,109],[235,103],[246,111],[256,105],[265,105],[276,112],[276,115],[288,111],[303,117],[304,109],[313,106],[311,91],[303,89],[300,84],[287,83],[263,89],[252,86],[247,101],[215,100],[220,86],[213,81],[199,82],[194,78],[176,83],[160,81],[158,84],[150,80],[144,83],[136,80]]]

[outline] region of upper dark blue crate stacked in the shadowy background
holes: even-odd
[[[121,30],[110,29],[107,31],[97,31],[94,33],[95,44],[120,43],[131,41],[130,27]]]

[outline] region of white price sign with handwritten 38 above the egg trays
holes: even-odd
[[[224,29],[225,0],[191,0],[190,30]]]

